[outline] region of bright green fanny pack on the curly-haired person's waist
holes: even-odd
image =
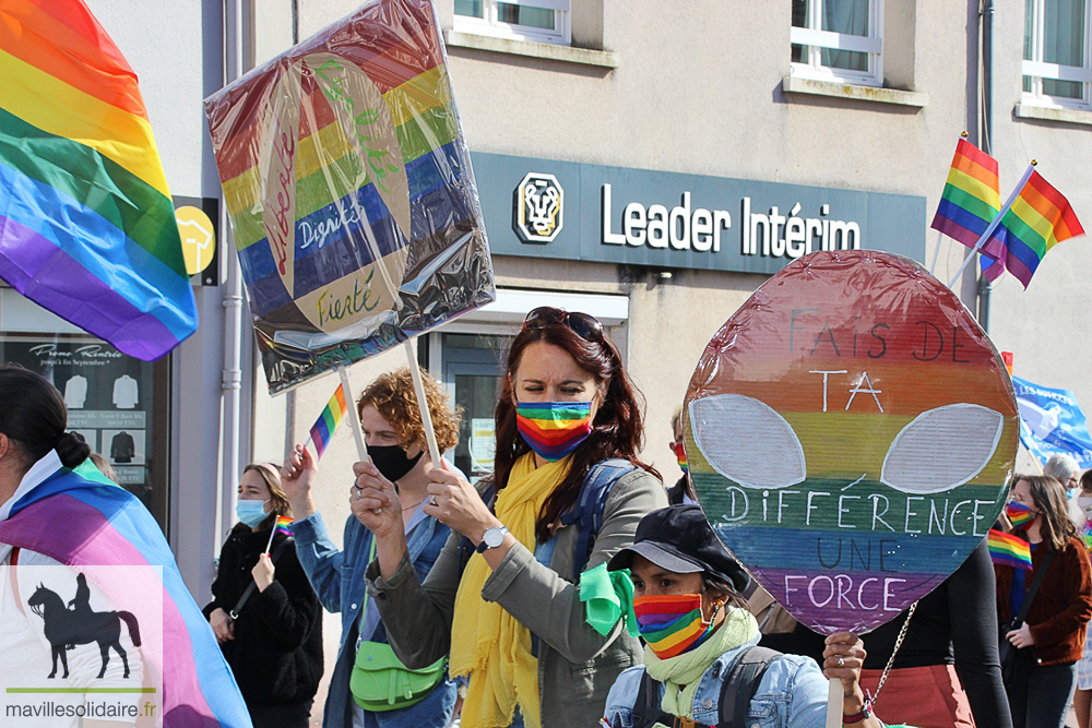
[[[411,670],[382,642],[361,642],[356,651],[348,688],[365,711],[382,712],[408,707],[428,695],[443,680],[448,658]]]

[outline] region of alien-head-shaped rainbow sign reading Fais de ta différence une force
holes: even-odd
[[[725,545],[812,630],[865,632],[953,572],[1006,501],[1005,365],[913,261],[817,252],[716,333],[686,453]]]

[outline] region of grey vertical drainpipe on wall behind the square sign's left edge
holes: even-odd
[[[253,44],[253,0],[224,0],[224,82],[232,83],[254,64]],[[221,205],[224,208],[224,205]],[[226,217],[226,212],[224,213]],[[235,254],[235,242],[230,226],[227,230],[228,251],[227,281],[224,286],[224,369],[221,372],[221,456],[219,484],[217,488],[219,508],[216,513],[216,552],[218,539],[226,530],[227,523],[234,523],[235,488],[239,477],[241,451],[240,419],[242,398],[242,273],[239,258]],[[229,485],[228,485],[229,484]]]

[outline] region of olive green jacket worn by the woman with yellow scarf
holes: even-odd
[[[603,506],[603,526],[585,569],[605,563],[632,544],[641,518],[666,505],[663,485],[648,472],[638,468],[621,476]],[[639,642],[622,630],[621,622],[603,636],[584,621],[572,573],[577,536],[575,526],[558,530],[549,566],[517,542],[482,589],[483,599],[496,601],[538,636],[543,728],[594,726],[604,715],[615,678],[642,661]],[[369,594],[379,607],[391,646],[407,667],[431,665],[450,649],[462,575],[460,540],[452,532],[424,584],[405,558],[389,580],[379,576],[378,562],[368,568]]]

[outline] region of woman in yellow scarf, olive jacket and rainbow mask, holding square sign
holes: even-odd
[[[637,458],[642,404],[598,321],[529,313],[497,403],[491,493],[432,470],[425,511],[456,533],[424,583],[406,559],[394,487],[370,464],[355,466],[377,541],[369,593],[407,667],[450,652],[451,675],[468,680],[463,728],[594,725],[615,678],[641,661],[621,622],[595,619],[581,597],[603,587],[606,562],[641,518],[667,504],[657,474]],[[608,460],[602,523],[590,553],[577,553],[586,533],[566,516]]]

